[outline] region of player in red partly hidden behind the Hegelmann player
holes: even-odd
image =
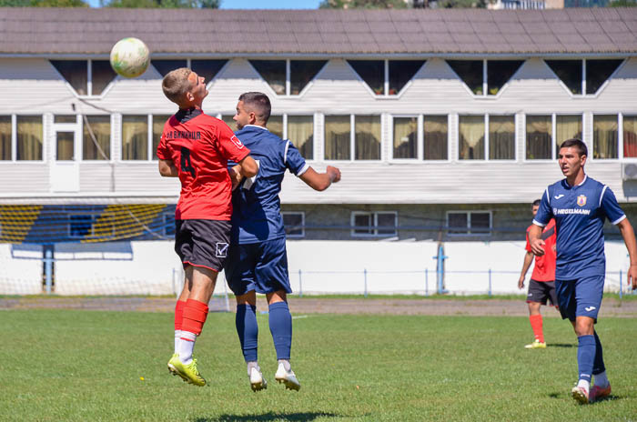
[[[538,208],[540,208],[540,199],[535,200],[531,206],[533,216],[538,214]],[[533,262],[533,252],[529,243],[531,226],[527,228],[526,254],[524,255],[520,280],[518,280],[518,288],[524,288],[524,278],[531,266],[531,262]],[[530,345],[526,345],[526,348],[546,348],[540,306],[546,305],[547,300],[551,301],[552,306],[557,306],[558,303],[555,294],[555,220],[551,220],[544,227],[541,238],[545,242],[545,254],[543,256],[535,256],[535,266],[529,282],[529,293],[526,297],[526,302],[529,304],[529,320],[531,321],[535,340]]]

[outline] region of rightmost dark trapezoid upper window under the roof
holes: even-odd
[[[623,60],[605,59],[544,61],[574,95],[596,94],[623,63]]]

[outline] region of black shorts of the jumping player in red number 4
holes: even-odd
[[[230,222],[220,220],[175,220],[175,252],[184,268],[203,266],[221,271],[230,244]]]

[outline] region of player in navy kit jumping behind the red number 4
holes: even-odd
[[[317,173],[289,140],[269,132],[270,110],[268,95],[250,92],[238,98],[235,134],[250,149],[259,169],[257,176],[235,179],[238,187],[232,196],[231,246],[225,266],[227,283],[237,296],[237,333],[254,391],[267,387],[257,360],[256,292],[268,299],[269,327],[278,359],[275,379],[287,388],[300,388],[289,364],[292,316],[287,295],[292,289],[278,198],[283,176],[289,170],[318,191],[340,180],[338,168],[328,166],[325,173]],[[234,170],[231,173],[240,175],[239,168]]]

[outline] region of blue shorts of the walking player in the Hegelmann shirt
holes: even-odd
[[[575,321],[577,316],[589,316],[597,321],[602,306],[604,276],[588,276],[577,280],[556,280],[561,318]]]

